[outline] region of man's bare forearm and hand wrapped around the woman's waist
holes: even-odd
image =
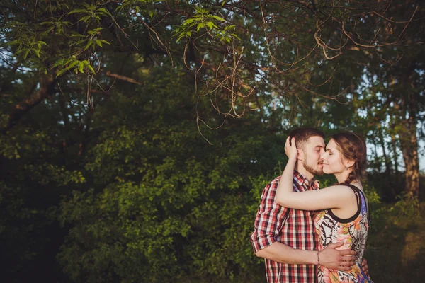
[[[255,254],[260,258],[287,264],[317,265],[320,263],[329,269],[349,271],[356,262],[356,252],[335,249],[343,244],[343,242],[329,244],[327,248],[319,252],[319,258],[317,258],[317,250],[297,250],[279,242],[272,243]]]

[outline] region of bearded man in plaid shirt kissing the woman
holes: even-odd
[[[324,133],[318,129],[301,128],[290,132],[295,137],[300,156],[295,164],[294,191],[318,190],[314,175],[322,175]],[[266,277],[271,282],[317,282],[317,265],[335,270],[350,270],[356,260],[353,250],[336,250],[343,243],[330,244],[317,251],[314,212],[288,209],[274,201],[280,177],[263,190],[256,214],[251,243],[254,253],[265,259]],[[365,260],[363,260],[365,265]],[[367,272],[367,265],[363,270]]]

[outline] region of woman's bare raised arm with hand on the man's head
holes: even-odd
[[[310,190],[306,192],[293,191],[293,172],[297,162],[297,146],[295,139],[289,143],[289,137],[286,139],[285,152],[288,155],[288,163],[280,178],[278,189],[276,191],[276,202],[283,207],[304,210],[319,210],[342,208],[346,204],[356,201],[356,196],[351,188],[341,185],[335,185],[322,190]]]

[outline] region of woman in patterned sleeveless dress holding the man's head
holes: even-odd
[[[276,202],[283,207],[322,210],[314,219],[319,249],[318,278],[321,282],[372,282],[361,269],[368,235],[368,204],[360,178],[365,172],[366,146],[351,132],[334,134],[322,156],[323,172],[334,174],[338,185],[307,192],[293,191],[293,171],[298,151],[295,139],[286,140],[288,164],[278,185]],[[320,251],[329,243],[344,242],[341,248],[356,250],[356,265],[350,271],[329,270],[320,266]]]

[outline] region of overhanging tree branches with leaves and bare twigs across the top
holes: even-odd
[[[388,4],[4,1],[1,34],[5,52],[13,56],[8,64],[40,72],[40,88],[8,111],[4,130],[57,91],[57,83],[67,84],[72,72],[83,80],[81,74],[85,74],[86,88],[91,91],[101,91],[96,81],[106,86],[111,86],[111,79],[134,82],[101,63],[116,53],[140,54],[141,66],[149,59],[160,64],[165,55],[176,64],[185,64],[199,81],[198,96],[211,100],[225,117],[240,117],[247,110],[261,108],[261,96],[294,96],[304,91],[314,95],[317,92],[309,77],[317,62],[345,52],[403,43],[404,30],[399,37],[397,32],[387,37],[384,21],[380,21],[386,18]],[[370,24],[366,19],[371,16],[378,21]],[[373,36],[370,27],[375,30]],[[329,81],[331,73],[324,79]]]

